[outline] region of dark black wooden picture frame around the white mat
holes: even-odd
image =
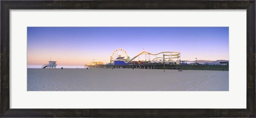
[[[10,109],[10,13],[9,10],[216,10],[247,11],[246,109]],[[255,115],[255,0],[238,1],[1,1],[1,117],[256,117]]]

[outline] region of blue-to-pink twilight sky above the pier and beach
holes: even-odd
[[[117,48],[130,58],[145,50],[180,52],[181,60],[229,60],[228,36],[228,27],[28,27],[27,65],[50,58],[63,66],[109,63]]]

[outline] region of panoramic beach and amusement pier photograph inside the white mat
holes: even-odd
[[[228,90],[228,27],[27,27],[27,91]]]

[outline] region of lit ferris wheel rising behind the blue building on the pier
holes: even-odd
[[[127,55],[127,52],[122,48],[114,50],[114,52],[111,55],[111,63],[114,62],[114,60],[118,57],[124,57],[125,60],[130,59],[130,57]]]

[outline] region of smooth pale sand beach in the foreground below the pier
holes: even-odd
[[[161,69],[28,69],[28,91],[220,91],[228,71]]]

